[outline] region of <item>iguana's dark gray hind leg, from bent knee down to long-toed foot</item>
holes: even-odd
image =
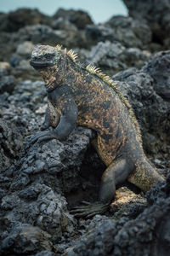
[[[107,167],[102,175],[99,189],[99,201],[96,203],[86,202],[85,206],[75,207],[71,213],[76,217],[89,218],[105,212],[115,195],[116,184],[125,181],[130,171],[127,160],[123,158],[115,160]]]

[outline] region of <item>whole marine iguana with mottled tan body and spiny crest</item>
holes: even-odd
[[[65,140],[76,125],[87,126],[97,133],[94,148],[104,161],[99,201],[86,202],[72,212],[90,217],[105,212],[116,192],[116,185],[128,180],[147,191],[163,180],[146,158],[139,124],[133,109],[115,82],[99,68],[82,67],[72,50],[37,45],[31,54],[31,66],[45,81],[48,109],[42,130],[30,143]]]

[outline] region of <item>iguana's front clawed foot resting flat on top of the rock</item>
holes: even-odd
[[[51,139],[58,139],[53,131],[38,131],[35,135],[28,136],[28,143],[41,143],[42,141],[48,141]]]

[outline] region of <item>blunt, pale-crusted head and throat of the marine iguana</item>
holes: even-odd
[[[59,46],[35,46],[30,64],[42,75],[48,89],[53,90],[65,77],[65,51],[59,49]]]

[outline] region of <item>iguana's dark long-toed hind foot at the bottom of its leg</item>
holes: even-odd
[[[108,207],[110,206],[110,203],[101,203],[101,202],[97,202],[97,203],[90,203],[87,201],[82,201],[82,203],[85,206],[82,207],[74,207],[71,210],[71,213],[78,218],[90,218],[93,217],[96,214],[101,214],[106,212],[106,210],[108,209]]]

